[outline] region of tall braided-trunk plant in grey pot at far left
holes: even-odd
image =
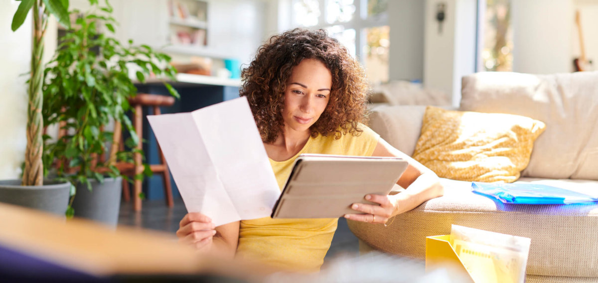
[[[45,180],[42,164],[42,84],[44,72],[42,54],[48,17],[53,15],[59,23],[69,27],[67,0],[22,0],[14,14],[11,29],[22,26],[29,11],[33,11],[33,43],[31,70],[28,82],[27,146],[22,180],[0,181],[0,201],[22,205],[64,215],[71,184]]]

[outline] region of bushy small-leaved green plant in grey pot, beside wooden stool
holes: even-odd
[[[53,59],[44,70],[44,108],[46,125],[59,124],[56,140],[45,137],[44,164],[56,168],[59,179],[75,184],[68,216],[82,216],[115,225],[118,220],[121,193],[121,172],[117,162],[133,162],[133,153],[141,150],[118,151],[108,143],[120,142],[117,134],[105,130],[111,121],[123,125],[130,133],[127,144],[135,148],[137,134],[127,116],[128,99],[136,95],[130,73],[140,82],[148,76],[175,80],[176,70],[170,57],[147,45],[127,45],[112,38],[117,22],[111,17],[112,7],[106,1],[100,7],[90,1],[85,13],[72,10],[76,17],[60,41]],[[102,32],[103,30],[103,32]],[[164,85],[175,97],[176,90]],[[109,152],[110,158],[99,158]],[[52,166],[54,165],[54,166]],[[48,170],[46,170],[48,171]],[[145,164],[145,173],[151,174]],[[143,177],[142,174],[135,176]],[[125,177],[126,178],[126,177]]]

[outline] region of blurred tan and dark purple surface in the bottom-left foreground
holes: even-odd
[[[1,282],[258,282],[271,271],[200,256],[171,234],[0,203]]]

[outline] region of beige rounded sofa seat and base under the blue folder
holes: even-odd
[[[597,181],[541,180],[542,183],[597,195]],[[451,224],[532,239],[527,274],[598,277],[598,204],[519,205],[471,192],[471,182],[441,179],[444,196],[393,217],[387,223],[348,221],[361,241],[376,250],[423,259],[426,236],[446,235]]]

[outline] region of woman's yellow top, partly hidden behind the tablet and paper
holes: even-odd
[[[361,135],[334,134],[310,137],[295,156],[285,161],[270,159],[280,190],[291,174],[293,162],[301,153],[371,156],[379,135],[363,124]],[[332,242],[338,219],[271,219],[241,220],[237,256],[258,260],[286,270],[317,272]]]

